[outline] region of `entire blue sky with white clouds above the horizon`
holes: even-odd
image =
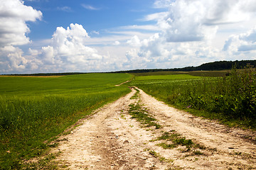
[[[0,0],[0,74],[256,60],[255,0]]]

